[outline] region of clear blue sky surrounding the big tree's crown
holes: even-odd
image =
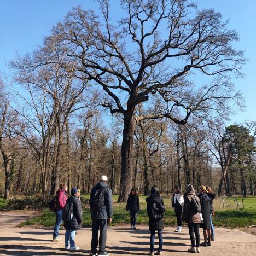
[[[246,50],[249,59],[243,68],[245,78],[235,79],[236,89],[242,91],[246,111],[237,112],[232,122],[256,121],[256,1],[255,0],[199,0],[200,8],[214,8],[229,19],[229,28],[240,35],[237,48]],[[113,9],[119,0],[110,0]],[[0,1],[0,72],[8,74],[8,62],[16,51],[25,54],[42,43],[51,27],[75,5],[97,9],[93,0],[2,0]],[[115,13],[115,11],[113,11]]]

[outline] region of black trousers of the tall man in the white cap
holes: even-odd
[[[105,252],[106,241],[107,241],[107,219],[92,219],[92,236],[91,236],[91,253],[97,253],[98,243],[100,246],[99,253]],[[100,237],[98,239],[98,230],[100,230]]]

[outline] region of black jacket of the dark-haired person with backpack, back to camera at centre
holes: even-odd
[[[150,217],[150,213],[152,213],[152,208],[154,207],[154,204],[158,208],[160,207],[160,204],[164,207],[164,201],[162,200],[162,197],[160,195],[150,195],[149,197],[146,198],[147,202],[147,213],[149,216],[149,230],[156,230],[156,229],[164,229],[164,222],[162,219],[160,220],[155,220],[152,217]],[[163,209],[163,212],[165,211],[165,208]]]

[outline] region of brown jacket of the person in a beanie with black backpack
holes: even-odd
[[[182,219],[184,222],[187,223],[201,223],[200,213],[197,212],[194,214],[191,211],[191,200],[195,197],[195,200],[200,203],[199,197],[196,196],[195,190],[190,190],[185,193],[184,195],[184,208],[183,208],[183,214]]]

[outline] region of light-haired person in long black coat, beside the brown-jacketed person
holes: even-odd
[[[197,195],[201,202],[202,218],[203,222],[200,223],[200,228],[203,229],[203,237],[205,241],[201,243],[201,246],[211,246],[211,220],[210,220],[210,208],[211,199],[207,196],[207,190],[205,186],[199,187],[199,194]]]

